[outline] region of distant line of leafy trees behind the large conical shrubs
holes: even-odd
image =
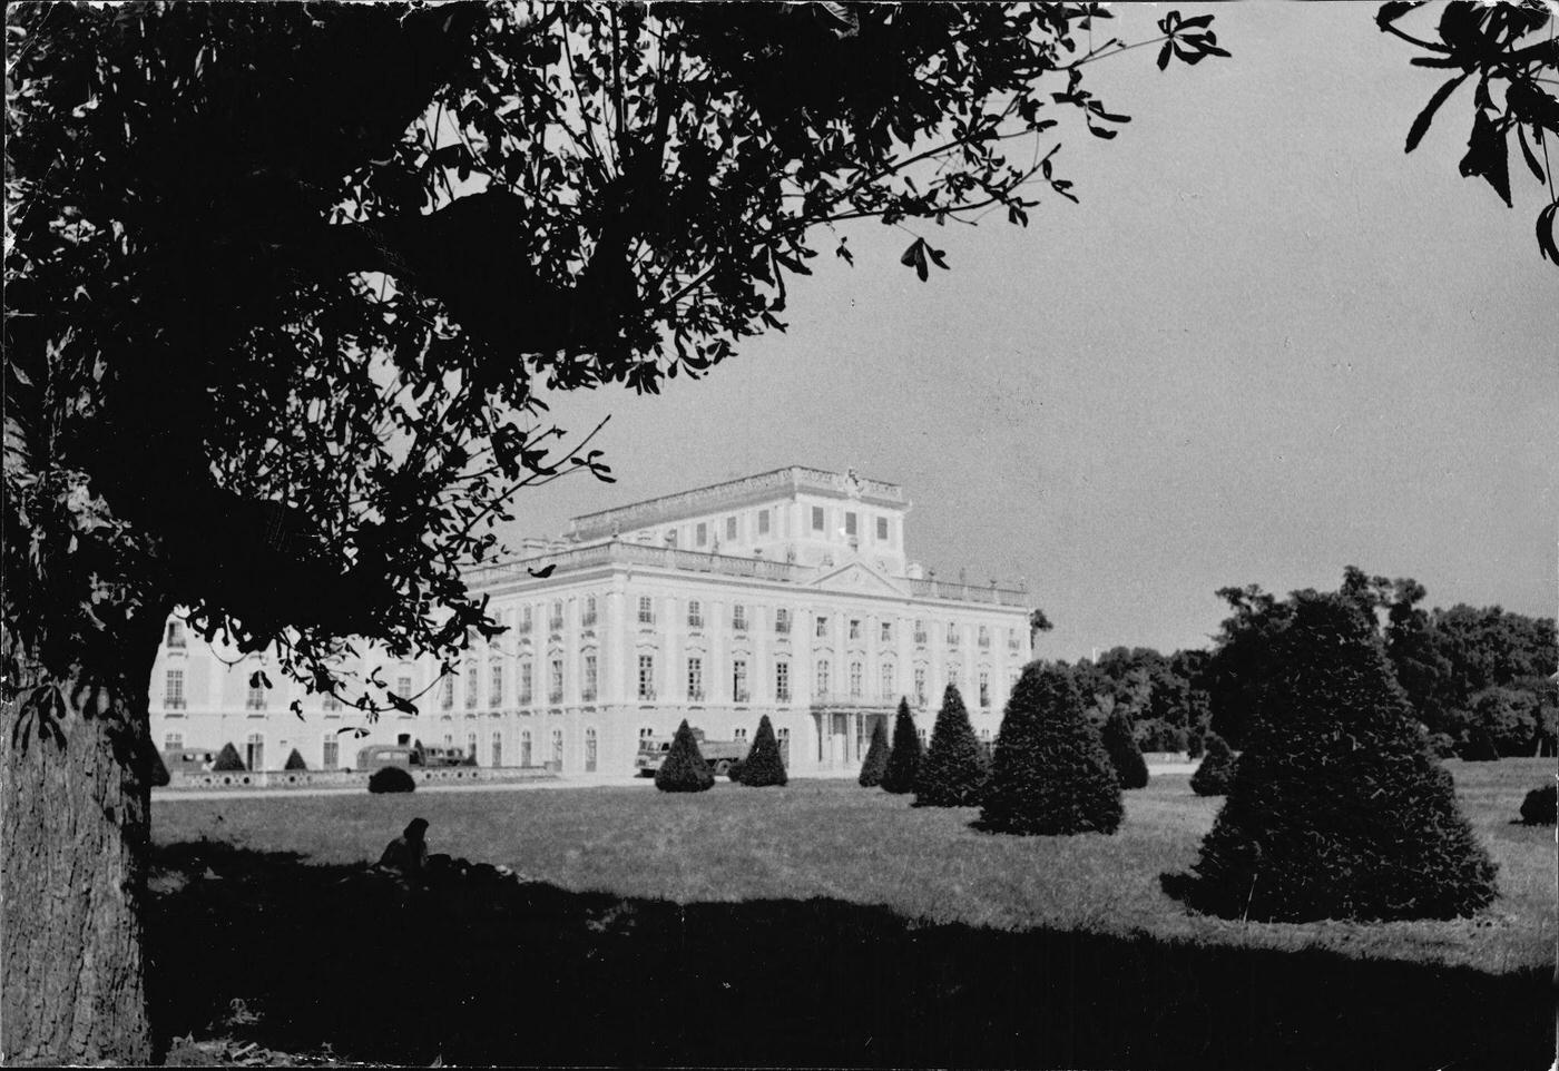
[[[1208,731],[1239,747],[1272,689],[1281,689],[1274,641],[1289,625],[1296,597],[1260,586],[1224,588],[1228,603],[1211,650],[1163,655],[1116,647],[1069,666],[1096,720],[1124,711],[1144,751],[1200,753]],[[1559,638],[1553,617],[1500,606],[1425,610],[1412,578],[1344,571],[1338,594],[1375,622],[1397,684],[1436,748],[1467,759],[1553,755],[1559,747]]]

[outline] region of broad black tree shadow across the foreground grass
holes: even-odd
[[[396,1063],[1545,1066],[1545,971],[915,924],[833,900],[678,906],[488,876],[157,850],[159,1034]],[[209,878],[204,875],[218,875]]]

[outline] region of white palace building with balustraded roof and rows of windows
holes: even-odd
[[[1032,658],[1029,594],[923,575],[906,558],[907,511],[898,485],[792,466],[574,518],[561,539],[468,575],[507,631],[443,680],[432,659],[384,664],[418,714],[373,723],[173,619],[153,739],[165,751],[231,742],[251,770],[293,750],[312,770],[349,769],[365,744],[416,739],[483,767],[627,775],[639,739],[683,719],[709,739],[751,739],[767,714],[806,775],[859,769],[901,697],[929,733],[949,683],[993,739]],[[251,687],[267,666],[274,687]]]

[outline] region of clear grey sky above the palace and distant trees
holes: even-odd
[[[1431,605],[1553,614],[1559,268],[1512,156],[1506,209],[1456,162],[1470,87],[1417,151],[1442,80],[1373,3],[1218,5],[1232,59],[1160,73],[1143,48],[1088,76],[1133,122],[1066,128],[1082,204],[1027,229],[850,232],[790,288],[790,329],[659,398],[555,398],[619,483],[532,491],[516,532],[786,465],[904,483],[910,557],[1024,577],[1048,658],[1204,645],[1225,585],[1417,577]],[[1183,14],[1200,11],[1179,5]],[[1118,11],[1138,41],[1168,6]],[[1422,17],[1422,16],[1420,16]],[[1434,16],[1431,16],[1433,19]],[[1559,164],[1559,159],[1556,159]]]

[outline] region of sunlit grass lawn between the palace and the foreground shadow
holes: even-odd
[[[1489,973],[1551,965],[1554,831],[1512,825],[1551,759],[1450,762],[1462,808],[1498,862],[1500,900],[1478,918],[1386,924],[1263,924],[1188,914],[1158,887],[1196,861],[1221,800],[1188,776],[1127,794],[1113,837],[1001,837],[971,809],[915,809],[853,781],[787,789],[726,783],[698,795],[647,787],[159,800],[159,843],[209,837],[315,864],[377,859],[416,815],[432,851],[513,867],[571,892],[683,904],[828,898],[920,923],[996,931],[1152,934],[1197,945],[1299,949],[1465,965]]]

